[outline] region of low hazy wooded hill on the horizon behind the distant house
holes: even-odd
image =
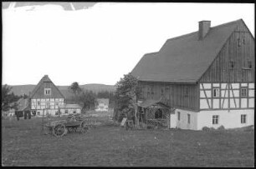
[[[12,92],[15,95],[23,95],[23,94],[29,94],[29,92],[33,91],[33,88],[36,85],[13,85],[10,87],[12,88]],[[57,86],[59,88],[59,91],[63,93],[64,97],[68,97],[70,95],[69,93],[69,86]],[[115,92],[115,86],[114,85],[105,85],[105,84],[84,84],[80,85],[83,90],[90,90],[92,92],[98,93],[102,91],[108,91],[108,92]]]

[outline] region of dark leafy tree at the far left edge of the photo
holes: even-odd
[[[18,104],[17,101],[21,97],[14,95],[13,92],[11,92],[12,87],[8,87],[7,84],[2,86],[2,111],[6,112],[9,109],[17,109]]]

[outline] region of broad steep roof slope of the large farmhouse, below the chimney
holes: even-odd
[[[159,52],[144,55],[131,74],[145,82],[197,82],[239,24],[242,19],[211,27],[202,40],[198,32],[168,39]]]

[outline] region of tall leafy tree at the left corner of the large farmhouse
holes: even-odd
[[[115,119],[124,113],[126,117],[135,117],[137,124],[137,97],[141,95],[141,88],[139,87],[136,77],[131,75],[131,72],[120,78],[120,81],[115,84]]]

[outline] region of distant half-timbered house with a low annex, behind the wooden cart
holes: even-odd
[[[78,104],[67,104],[64,95],[54,85],[48,75],[45,75],[29,95],[31,112],[40,117],[43,115],[62,116],[81,113]]]

